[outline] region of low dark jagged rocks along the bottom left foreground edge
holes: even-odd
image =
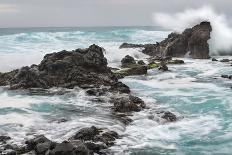
[[[114,144],[119,138],[117,132],[102,130],[95,126],[82,128],[69,140],[56,143],[43,135],[25,142],[25,146],[7,145],[3,154],[36,154],[36,155],[93,155],[105,154],[104,149]]]

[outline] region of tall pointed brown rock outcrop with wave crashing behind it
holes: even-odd
[[[186,29],[182,34],[171,33],[156,44],[134,45],[123,43],[120,48],[144,48],[142,52],[150,56],[184,57],[189,54],[192,58],[208,59],[210,32],[209,22],[201,22],[193,28]]]

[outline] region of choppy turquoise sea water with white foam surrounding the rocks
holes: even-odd
[[[106,49],[110,66],[118,66],[127,54],[146,58],[136,49],[118,49],[122,42],[160,41],[168,31],[148,27],[0,29],[0,71],[39,63],[45,53],[88,47]],[[122,81],[142,97],[150,109],[133,116],[125,127],[110,112],[108,98],[98,102],[83,90],[51,89],[9,91],[0,88],[0,133],[20,143],[33,134],[62,141],[79,128],[97,125],[123,135],[111,148],[115,154],[232,154],[232,74],[228,63],[184,59],[170,65],[170,72],[150,70],[147,76]],[[179,116],[175,123],[158,122],[157,109]],[[59,123],[60,119],[67,122]]]

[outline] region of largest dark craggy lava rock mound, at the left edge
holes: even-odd
[[[12,89],[86,88],[111,86],[115,82],[117,78],[107,67],[103,48],[97,45],[47,54],[39,65],[0,74],[0,85],[10,85]]]

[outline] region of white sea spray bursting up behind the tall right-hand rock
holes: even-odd
[[[182,32],[187,27],[193,27],[201,21],[210,21],[213,31],[210,44],[210,55],[232,54],[232,28],[224,14],[217,13],[212,7],[204,6],[198,9],[187,9],[176,14],[155,13],[156,25]]]

